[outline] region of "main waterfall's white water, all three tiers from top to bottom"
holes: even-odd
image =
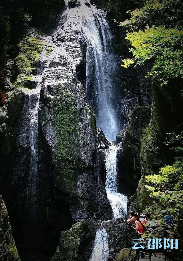
[[[68,54],[73,58],[74,74],[77,74],[77,66],[80,66],[78,61],[82,60],[82,54],[78,55],[80,46],[81,44],[85,46],[87,99],[95,109],[96,125],[103,130],[108,140],[114,141],[119,132],[115,105],[116,65],[112,50],[112,34],[106,13],[90,5],[87,0],[77,1],[77,6],[73,8],[70,8],[68,1],[66,5],[67,9],[60,19],[55,34],[62,34],[62,28],[64,28],[65,34],[60,37],[60,41],[67,47]],[[73,41],[73,31],[76,34],[74,38],[76,43]],[[124,195],[118,193],[117,149],[115,146],[110,146],[105,153],[106,192],[113,209],[114,219],[124,215],[127,201]],[[108,256],[108,236],[106,228],[102,226],[96,232],[90,261],[107,261]]]

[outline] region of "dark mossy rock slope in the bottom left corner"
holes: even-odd
[[[3,261],[20,261],[5,203],[0,195],[0,259]]]

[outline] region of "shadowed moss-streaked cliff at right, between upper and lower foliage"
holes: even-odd
[[[164,86],[157,84],[152,86],[151,121],[142,132],[140,152],[142,178],[138,185],[137,195],[141,209],[149,203],[148,192],[144,187],[144,175],[157,173],[160,167],[173,161],[171,152],[164,141],[166,134],[174,131],[182,123],[181,88],[181,81],[176,79]]]

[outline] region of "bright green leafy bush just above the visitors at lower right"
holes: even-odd
[[[183,161],[162,167],[157,175],[148,175],[145,179],[150,184],[146,188],[153,202],[144,211],[150,211],[154,219],[161,219],[166,209],[178,215],[183,209]]]

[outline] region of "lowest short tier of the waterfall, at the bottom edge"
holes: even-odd
[[[109,257],[108,236],[106,228],[98,228],[94,248],[89,261],[107,261]]]

